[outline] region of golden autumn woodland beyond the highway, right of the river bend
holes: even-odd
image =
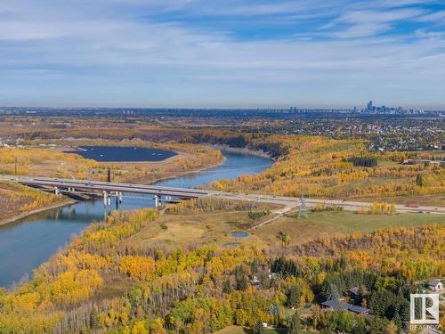
[[[280,143],[280,147],[287,148],[287,154],[263,173],[215,181],[214,189],[323,198],[412,196],[445,191],[445,168],[401,165],[400,159],[408,154],[360,156],[366,148],[357,140],[258,136],[266,143]],[[385,163],[378,164],[377,159]]]

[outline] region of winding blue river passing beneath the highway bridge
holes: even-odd
[[[158,184],[191,188],[222,178],[259,173],[272,164],[270,159],[261,157],[227,151],[223,154],[226,160],[218,167]],[[127,194],[118,209],[153,205],[150,196]],[[0,286],[10,287],[29,277],[34,268],[65,247],[73,235],[82,232],[91,222],[102,220],[114,209],[115,206],[105,209],[102,200],[92,200],[0,225]]]

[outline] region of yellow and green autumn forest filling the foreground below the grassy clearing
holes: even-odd
[[[409,293],[445,274],[443,225],[280,248],[159,248],[131,241],[162,215],[258,209],[242,202],[187,203],[170,213],[116,212],[92,224],[31,281],[0,293],[0,333],[205,333],[232,324],[255,330],[260,322],[295,333],[397,333],[408,320]],[[341,297],[372,316],[320,308]]]

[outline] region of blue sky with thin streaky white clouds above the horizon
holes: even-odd
[[[2,0],[0,105],[445,109],[445,1]]]

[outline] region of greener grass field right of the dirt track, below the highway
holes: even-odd
[[[445,215],[400,214],[359,215],[352,211],[309,212],[307,219],[297,219],[296,215],[284,216],[271,224],[266,224],[254,234],[269,245],[279,245],[277,233],[286,232],[290,244],[302,244],[323,234],[372,232],[379,228],[393,226],[419,226],[424,224],[445,224]]]

